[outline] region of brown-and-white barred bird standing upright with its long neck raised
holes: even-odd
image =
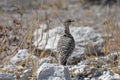
[[[64,21],[64,33],[58,40],[58,62],[61,65],[67,64],[67,60],[75,48],[75,40],[69,30],[69,26],[72,22],[74,22],[74,20],[71,19],[67,19]]]

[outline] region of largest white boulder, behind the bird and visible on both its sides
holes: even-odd
[[[58,40],[61,34],[63,33],[63,31],[64,31],[64,27],[56,27],[54,29],[49,30],[49,32],[44,33],[42,37],[41,29],[38,29],[37,33],[39,35],[38,36],[39,38],[36,39],[37,35],[36,36],[34,35],[33,45],[35,46],[38,45],[39,49],[43,49],[45,47],[46,49],[56,50]],[[101,52],[103,48],[104,40],[102,38],[102,35],[98,33],[96,30],[94,30],[91,27],[71,27],[70,31],[75,39],[76,46],[73,54],[70,56],[68,60],[69,61],[68,63],[71,64],[75,60],[81,61],[81,59],[84,57],[84,55],[82,54]],[[49,38],[47,39],[46,36],[48,35],[49,35]]]

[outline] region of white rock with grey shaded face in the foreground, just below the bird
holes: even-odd
[[[68,69],[62,65],[44,63],[37,71],[38,80],[71,80]]]

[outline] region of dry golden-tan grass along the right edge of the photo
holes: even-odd
[[[118,52],[120,51],[120,25],[118,24],[118,22],[116,20],[109,20],[107,21],[107,23],[105,23],[106,25],[106,32],[107,34],[111,34],[113,36],[114,40],[110,40],[109,37],[105,38],[106,41],[106,45],[104,46],[104,53],[108,54],[108,53],[114,53],[114,52]],[[111,56],[113,57],[113,56]],[[119,69],[118,69],[118,63],[120,61],[120,56],[118,55],[117,60],[112,60],[111,59],[111,70],[113,70],[114,72],[119,73]]]

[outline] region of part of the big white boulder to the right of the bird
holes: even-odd
[[[75,38],[76,47],[78,47],[78,49],[80,47],[86,47],[90,49],[91,53],[94,53],[94,50],[99,52],[103,47],[104,41],[102,35],[93,28],[78,27],[76,29],[76,27],[73,27],[71,28],[71,34],[73,34]]]

